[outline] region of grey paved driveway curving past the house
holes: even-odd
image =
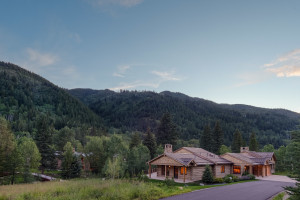
[[[266,200],[283,191],[283,186],[294,185],[279,181],[254,181],[198,190],[164,200]]]

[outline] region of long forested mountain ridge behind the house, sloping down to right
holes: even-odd
[[[189,97],[169,91],[136,92],[72,89],[70,94],[81,100],[102,117],[108,127],[123,131],[156,131],[163,113],[172,114],[181,138],[199,138],[206,124],[214,126],[220,121],[225,144],[230,145],[235,129],[245,140],[253,131],[261,145],[272,143],[276,147],[289,138],[288,131],[299,123],[300,114],[283,109],[266,109],[248,105],[217,104],[201,98]]]

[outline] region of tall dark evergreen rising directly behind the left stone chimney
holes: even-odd
[[[176,145],[178,133],[169,113],[165,113],[161,118],[156,138],[158,144]]]

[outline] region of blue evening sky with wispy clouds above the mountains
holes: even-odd
[[[300,1],[2,0],[0,60],[63,88],[300,113]]]

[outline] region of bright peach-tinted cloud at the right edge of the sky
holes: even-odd
[[[300,49],[295,49],[283,56],[278,57],[271,63],[264,64],[265,70],[277,77],[300,76]]]

